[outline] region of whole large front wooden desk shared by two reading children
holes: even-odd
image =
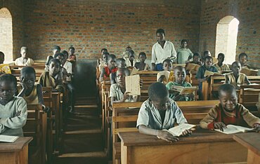
[[[119,132],[121,161],[125,163],[241,163],[247,149],[225,135],[211,130],[196,130],[190,137],[168,143],[139,132]]]

